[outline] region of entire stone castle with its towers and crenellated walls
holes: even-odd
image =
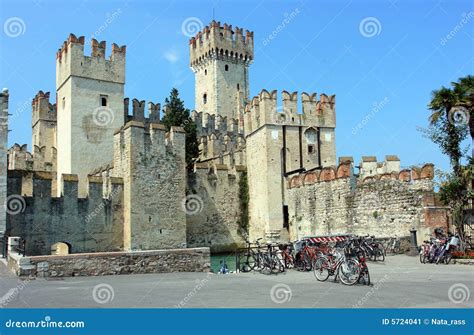
[[[336,156],[335,95],[261,90],[250,99],[253,32],[213,21],[189,42],[199,157],[160,104],[124,95],[126,47],[69,35],[56,53],[56,102],[32,101],[32,151],[8,143],[0,95],[0,232],[27,254],[211,247],[314,234],[407,236],[447,224],[433,165],[400,170]],[[14,93],[13,93],[14,94]],[[298,110],[301,99],[301,110]],[[8,160],[7,160],[8,156]],[[248,190],[248,191],[247,191]],[[245,201],[245,198],[248,201]],[[248,216],[245,214],[248,213]]]

